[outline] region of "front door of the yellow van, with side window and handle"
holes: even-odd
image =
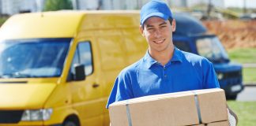
[[[73,56],[68,83],[72,92],[73,109],[77,110],[81,125],[103,125],[102,85],[96,74],[91,41],[80,41]],[[85,80],[72,80],[75,65],[85,65]]]

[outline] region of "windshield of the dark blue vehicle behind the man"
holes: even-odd
[[[217,37],[201,38],[196,41],[198,54],[213,62],[227,62],[228,54]]]

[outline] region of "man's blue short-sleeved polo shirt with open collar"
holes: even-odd
[[[205,57],[175,47],[171,60],[160,65],[149,52],[116,78],[108,106],[117,101],[145,95],[219,88],[213,64]]]

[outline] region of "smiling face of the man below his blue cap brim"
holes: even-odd
[[[141,34],[149,43],[149,52],[163,52],[173,47],[172,31],[175,31],[175,20],[172,25],[169,20],[160,17],[149,17],[144,23],[144,28],[140,27]]]

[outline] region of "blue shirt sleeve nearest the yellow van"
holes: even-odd
[[[106,108],[113,102],[134,98],[131,88],[131,77],[128,72],[121,72],[116,78]]]

